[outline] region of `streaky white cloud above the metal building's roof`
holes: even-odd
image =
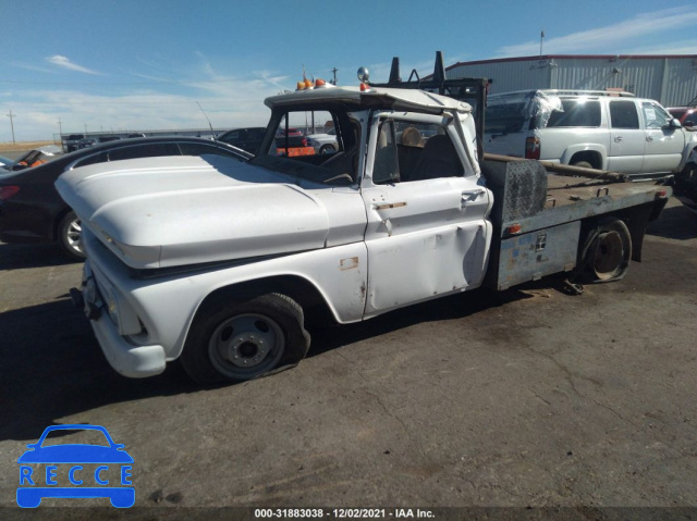
[[[697,23],[697,10],[692,7],[665,9],[637,14],[624,22],[596,29],[582,30],[566,36],[545,40],[546,54],[602,51],[607,53],[633,52],[637,46],[646,46],[651,36],[664,33],[671,37],[681,28],[693,27]],[[549,30],[547,32],[549,34]],[[682,46],[681,46],[682,47]],[[499,49],[500,57],[534,55],[539,52],[540,42],[505,46]],[[695,48],[692,49],[695,52]]]

